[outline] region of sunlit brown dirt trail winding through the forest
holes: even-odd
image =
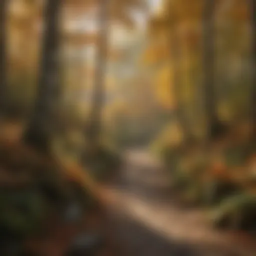
[[[101,191],[118,256],[256,255],[253,241],[213,230],[201,210],[178,206],[157,159],[142,150],[127,151],[125,159]]]

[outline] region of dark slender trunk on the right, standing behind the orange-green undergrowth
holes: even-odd
[[[214,91],[214,2],[204,0],[203,9],[203,88],[207,119],[207,139],[211,139],[217,122]]]

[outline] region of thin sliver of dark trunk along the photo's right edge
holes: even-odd
[[[252,139],[256,142],[256,1],[250,0],[252,26]]]

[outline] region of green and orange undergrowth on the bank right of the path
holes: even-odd
[[[181,200],[213,207],[216,226],[248,229],[255,227],[255,147],[237,127],[207,151],[198,141],[171,144],[164,136],[154,145]]]

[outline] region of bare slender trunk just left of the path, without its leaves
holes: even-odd
[[[104,74],[106,69],[107,54],[107,9],[108,0],[99,0],[99,39],[96,58],[96,70],[90,122],[88,127],[88,139],[91,146],[98,144],[99,134],[102,128],[102,106],[104,101]]]

